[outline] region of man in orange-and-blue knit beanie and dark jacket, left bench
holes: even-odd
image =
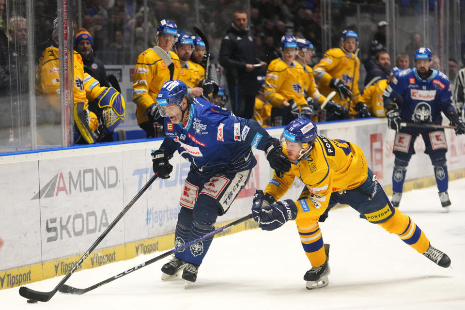
[[[74,39],[74,49],[81,55],[84,72],[98,80],[100,86],[108,87],[107,72],[103,62],[93,54],[93,38],[85,28],[78,30]]]

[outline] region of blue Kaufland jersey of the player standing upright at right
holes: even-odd
[[[414,123],[442,122],[441,111],[453,111],[449,78],[435,69],[428,79],[418,76],[417,69],[406,69],[397,75],[383,95],[394,99],[400,96],[401,118]]]

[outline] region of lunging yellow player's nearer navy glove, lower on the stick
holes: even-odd
[[[297,206],[291,199],[280,200],[260,210],[258,226],[264,231],[275,230],[297,217]]]

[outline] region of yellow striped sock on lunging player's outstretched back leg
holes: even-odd
[[[430,245],[430,241],[418,225],[398,209],[394,210],[394,214],[386,222],[378,225],[389,233],[397,234],[403,242],[416,249],[418,253],[424,253]]]

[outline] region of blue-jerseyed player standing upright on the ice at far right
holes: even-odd
[[[425,142],[425,153],[430,156],[443,207],[450,205],[448,172],[446,164],[447,142],[443,128],[420,128],[401,126],[401,123],[441,124],[441,111],[450,124],[457,126],[457,135],[465,134],[465,124],[455,111],[449,79],[438,70],[430,68],[433,55],[431,50],[420,47],[415,53],[415,67],[403,70],[389,84],[383,93],[388,126],[396,130],[393,153],[395,155],[392,173],[392,205],[399,206],[405,172],[410,157],[415,154],[414,142],[421,135]],[[397,106],[394,98],[400,96],[402,105]]]

